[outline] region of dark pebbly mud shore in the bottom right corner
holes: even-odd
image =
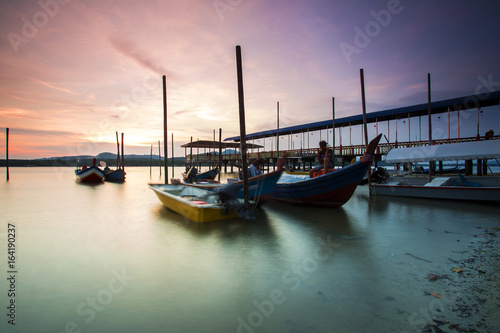
[[[476,230],[448,267],[426,276],[424,295],[435,301],[420,332],[500,332],[500,228]]]

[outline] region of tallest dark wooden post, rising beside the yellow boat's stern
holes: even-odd
[[[248,204],[248,167],[247,167],[247,140],[245,130],[245,101],[243,96],[243,69],[241,65],[241,46],[236,45],[236,72],[238,76],[238,104],[240,114],[240,153],[243,174],[243,197]]]

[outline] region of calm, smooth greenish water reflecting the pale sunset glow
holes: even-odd
[[[0,280],[2,332],[419,332],[436,306],[424,291],[446,294],[426,275],[500,227],[494,206],[366,187],[340,209],[270,203],[254,221],[196,224],[148,188],[158,170],[126,171],[88,186],[72,168],[11,168],[0,182],[1,269],[10,223],[17,270],[15,326]]]

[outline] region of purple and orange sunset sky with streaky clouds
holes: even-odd
[[[367,112],[426,103],[427,73],[433,100],[485,94],[500,90],[499,10],[496,0],[0,0],[0,128],[10,158],[114,152],[116,131],[127,154],[149,154],[163,140],[166,75],[168,138],[184,156],[191,137],[239,135],[236,45],[247,133],[276,128],[277,101],[280,127],[330,119],[332,97],[336,118],[360,114],[361,68]],[[498,106],[483,111],[481,132],[498,134]],[[477,110],[467,123],[474,135]]]

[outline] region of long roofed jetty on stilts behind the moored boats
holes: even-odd
[[[495,133],[496,135],[491,135],[491,133],[488,135],[486,133],[479,133],[480,114],[483,112],[481,108],[495,105],[500,105],[500,91],[432,102],[430,104],[431,114],[438,115],[437,117],[439,121],[445,121],[447,123],[447,135],[445,133],[445,137],[443,138],[443,133],[440,133],[441,138],[432,139],[432,145],[471,142],[484,139],[500,139],[500,136],[498,135],[498,131],[500,131],[500,124],[496,126],[491,124],[491,126],[497,130]],[[425,133],[430,132],[428,124],[424,121],[425,124],[424,126],[422,125],[422,118],[427,117],[428,108],[428,103],[424,103],[367,113],[366,122],[371,124],[370,135],[376,136],[379,133],[387,134],[385,135],[385,142],[381,141],[375,152],[376,164],[378,161],[382,160],[382,156],[385,155],[391,148],[418,147],[430,144],[428,135],[425,135]],[[461,116],[460,111],[471,109],[477,110],[478,114],[477,134],[472,137],[463,137],[460,134],[460,129],[464,126],[463,123],[467,121],[470,126],[470,123],[475,120],[470,117],[465,120],[465,118]],[[386,124],[384,127],[387,132],[379,132],[379,126],[381,124]],[[317,141],[319,140],[317,140],[316,137],[314,141],[310,140],[310,136],[311,133],[319,133],[320,140],[327,141],[330,148],[333,150],[335,165],[344,166],[349,164],[353,159],[362,156],[365,151],[366,144],[364,142],[362,130],[358,130],[358,132],[361,133],[360,142],[362,142],[362,144],[352,144],[353,127],[362,125],[363,115],[360,114],[337,118],[334,120],[329,119],[246,134],[247,142],[251,142],[247,143],[247,159],[264,159],[266,161],[267,170],[270,171],[276,169],[279,157],[286,153],[288,156],[287,168],[289,170],[305,171],[316,164],[315,156],[318,149]],[[391,125],[395,126],[392,131],[394,132],[395,129],[395,135],[392,137],[389,136],[389,129]],[[335,145],[332,129],[335,129],[336,137],[338,138],[337,145]],[[405,137],[402,137],[401,134],[398,137],[398,130],[400,133],[403,133]],[[348,133],[348,135],[345,133]],[[422,133],[424,133],[425,137],[422,137]],[[279,146],[276,144],[278,136],[281,137],[281,140],[287,140],[288,137],[289,144],[287,145],[287,149],[278,150]],[[412,140],[412,136],[416,139]],[[294,147],[294,137],[295,141],[300,142],[300,147]],[[239,141],[240,137],[235,136],[226,138],[222,142],[220,140],[219,142],[215,140],[198,140],[184,144],[182,147],[185,148],[186,163],[190,166],[209,165],[215,167],[216,165],[219,165],[224,172],[228,172],[228,167],[230,170],[229,172],[233,172],[235,167],[240,167],[239,161],[241,159],[238,151]],[[264,142],[264,145],[255,144],[254,142],[256,141]],[[272,148],[265,149],[266,146],[268,148]],[[439,167],[442,168],[441,165],[439,165]],[[471,168],[472,163],[470,164],[470,167],[467,168],[468,173],[471,172]],[[481,174],[482,172],[478,173]]]

